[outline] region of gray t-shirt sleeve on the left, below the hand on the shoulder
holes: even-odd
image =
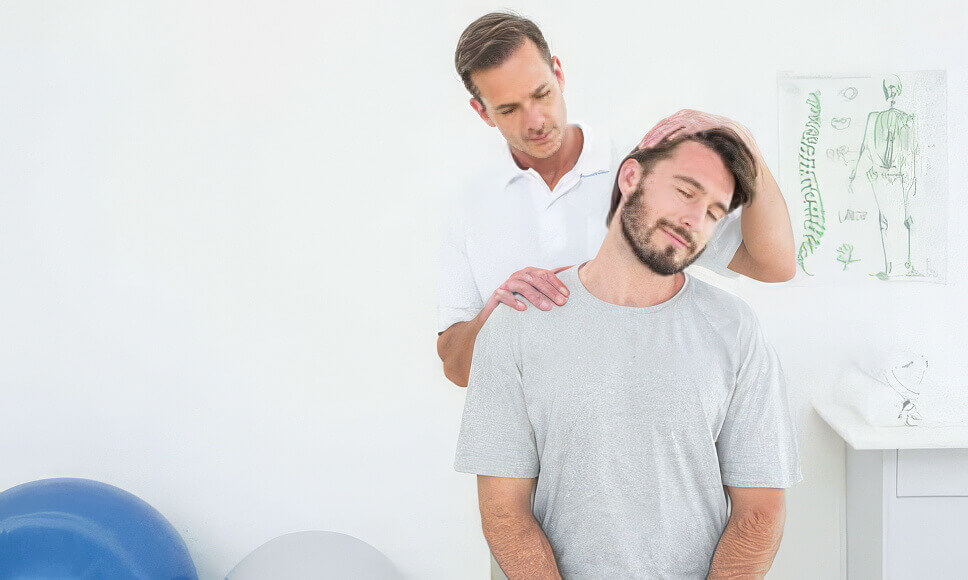
[[[454,469],[495,477],[537,477],[538,451],[528,418],[508,306],[488,317],[471,359]]]

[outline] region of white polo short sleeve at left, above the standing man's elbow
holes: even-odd
[[[437,252],[437,331],[477,316],[484,308],[467,258],[461,211],[446,214]]]

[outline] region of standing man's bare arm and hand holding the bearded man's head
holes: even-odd
[[[763,160],[753,135],[746,127],[719,115],[683,109],[656,124],[639,147],[650,147],[681,133],[725,127],[739,135],[756,162],[756,192],[743,208],[740,228],[743,241],[729,262],[729,269],[760,282],[786,282],[796,274],[796,246],[783,193]]]

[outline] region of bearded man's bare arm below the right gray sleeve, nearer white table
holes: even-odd
[[[723,486],[732,509],[708,580],[765,577],[780,547],[786,508],[782,489]]]

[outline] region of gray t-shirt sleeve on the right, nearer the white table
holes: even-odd
[[[740,338],[745,360],[716,440],[720,472],[724,485],[791,487],[803,478],[786,379],[752,312],[749,317]]]

